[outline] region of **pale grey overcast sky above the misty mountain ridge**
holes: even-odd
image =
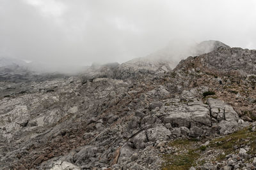
[[[255,11],[255,0],[0,0],[0,56],[124,62],[174,39],[256,49]]]

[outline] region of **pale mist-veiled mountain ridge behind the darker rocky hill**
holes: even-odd
[[[97,67],[92,66],[90,69],[86,70],[85,76],[89,78],[109,77],[125,79],[137,78],[144,74],[147,74],[147,76],[157,75],[172,71],[172,69],[179,64],[181,59],[209,53],[220,46],[230,48],[230,46],[227,46],[220,41],[213,40],[203,41],[199,44],[172,42],[165,48],[151,53],[146,57],[138,57],[120,65],[115,64],[115,66],[108,66],[105,64]]]

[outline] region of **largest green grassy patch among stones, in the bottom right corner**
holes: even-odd
[[[249,154],[256,154],[256,132],[252,131],[252,127],[215,138],[207,146],[202,145],[202,141],[192,138],[177,139],[169,143],[169,146],[177,148],[177,152],[162,155],[164,160],[162,170],[186,170],[191,166],[202,165],[205,161],[209,162],[207,157],[204,158],[205,150],[208,149],[220,151],[212,161],[223,160],[226,155],[237,152],[234,146],[241,148],[245,145],[250,146]]]

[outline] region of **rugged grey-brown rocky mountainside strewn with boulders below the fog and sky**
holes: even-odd
[[[256,169],[256,50],[212,50],[173,70],[2,74],[0,169]]]

